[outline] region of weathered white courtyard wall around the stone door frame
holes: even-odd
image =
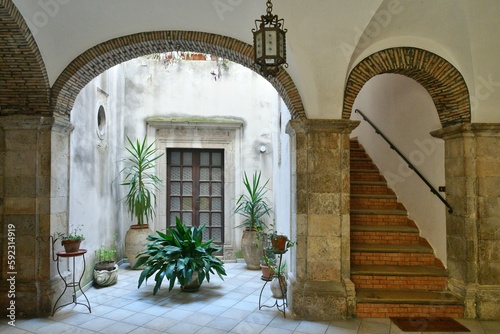
[[[244,171],[248,174],[262,171],[262,178],[271,180],[269,196],[271,200],[274,198],[272,152],[279,131],[281,99],[272,85],[255,72],[235,63],[227,66],[218,67],[215,61],[183,61],[167,66],[143,57],[113,67],[81,91],[71,113],[75,129],[71,137],[70,225],[84,225],[86,247],[97,249],[101,244],[111,244],[114,232],[118,232],[119,247],[123,245],[132,221],[120,201],[125,192],[117,179],[122,167],[119,160],[125,154],[125,136],[135,139],[148,133],[147,119],[241,121],[241,156],[235,162],[241,168],[239,175],[235,175],[235,183],[241,183]],[[212,74],[219,71],[220,77]],[[97,135],[100,105],[106,109],[104,140]],[[286,108],[282,112],[289,114]],[[266,154],[259,151],[262,145],[269,147]],[[203,140],[191,139],[188,146],[207,145]],[[162,159],[161,163],[166,163],[165,156]],[[234,194],[241,191],[238,188]],[[234,217],[229,205],[225,211],[226,219]],[[158,228],[165,228],[164,224]],[[235,233],[238,249],[240,229]],[[90,276],[86,281],[89,280]]]

